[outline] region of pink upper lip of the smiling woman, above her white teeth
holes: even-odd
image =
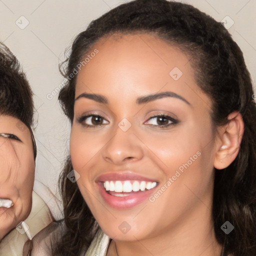
[[[121,170],[118,172],[108,172],[105,174],[101,174],[96,178],[96,182],[104,182],[107,180],[144,180],[144,181],[151,181],[151,182],[157,182],[155,179],[148,178],[142,175],[139,175],[133,171],[130,170]]]

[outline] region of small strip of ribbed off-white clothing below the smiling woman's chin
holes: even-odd
[[[110,238],[99,229],[84,256],[106,256],[109,242]]]

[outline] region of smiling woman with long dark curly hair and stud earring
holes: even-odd
[[[64,76],[94,48],[59,93],[71,134],[52,254],[254,256],[256,109],[228,31],[135,0],[77,35]]]

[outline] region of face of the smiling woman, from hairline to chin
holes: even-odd
[[[216,143],[189,58],[148,34],[95,49],[77,74],[70,154],[98,224],[115,240],[208,224]]]

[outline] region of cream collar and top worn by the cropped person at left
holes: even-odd
[[[1,240],[0,255],[22,256],[24,243],[52,222],[52,220],[49,208],[42,198],[33,191],[32,208],[29,216]]]

